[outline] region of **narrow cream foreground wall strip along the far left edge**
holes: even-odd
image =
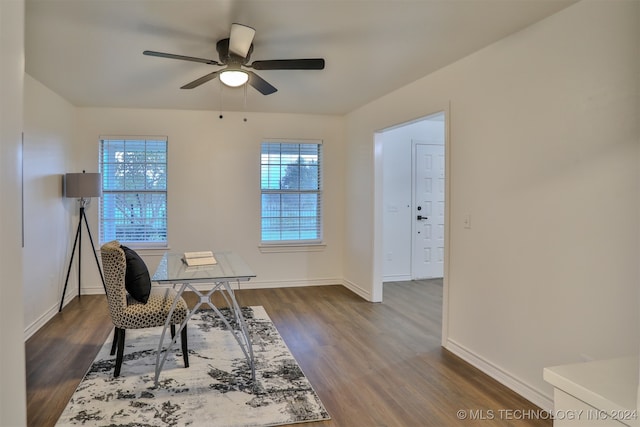
[[[27,421],[22,303],[24,1],[0,1],[0,425]]]

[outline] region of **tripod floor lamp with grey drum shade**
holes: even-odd
[[[76,246],[78,247],[78,297],[80,297],[80,284],[81,284],[81,267],[82,267],[82,222],[87,227],[87,233],[89,234],[89,241],[91,242],[91,249],[96,259],[96,265],[100,272],[100,279],[102,280],[102,286],[105,293],[107,292],[107,286],[104,283],[104,276],[102,275],[102,269],[98,262],[98,254],[96,254],[96,247],[93,244],[93,237],[91,237],[91,230],[89,229],[89,223],[87,222],[87,216],[84,213],[91,197],[102,196],[102,179],[99,173],[68,173],[64,178],[64,194],[67,198],[78,199],[80,204],[80,216],[78,218],[78,229],[76,231],[76,238],[73,242],[73,250],[71,251],[71,259],[69,260],[69,268],[67,269],[67,278],[64,281],[64,290],[62,291],[62,299],[60,300],[60,308],[58,312],[62,311],[62,305],[64,304],[64,295],[67,292],[67,283],[69,282],[69,273],[71,273],[71,264],[73,264],[73,256],[76,253]]]

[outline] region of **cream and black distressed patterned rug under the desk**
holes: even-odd
[[[264,308],[245,307],[243,313],[256,384],[232,333],[213,311],[203,310],[189,321],[189,368],[178,340],[156,386],[161,328],[130,330],[122,370],[114,378],[110,336],[56,425],[246,427],[329,419]]]

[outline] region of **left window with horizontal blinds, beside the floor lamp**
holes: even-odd
[[[167,139],[100,139],[100,242],[167,244]]]

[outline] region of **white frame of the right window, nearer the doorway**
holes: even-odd
[[[298,145],[298,150],[303,145],[315,145],[317,147],[317,167],[318,167],[318,188],[317,189],[265,189],[263,188],[263,155],[265,144],[280,144],[280,145]],[[280,152],[282,154],[282,151]],[[280,164],[282,167],[284,164]],[[260,143],[260,244],[259,247],[265,252],[279,252],[283,248],[286,251],[290,250],[317,250],[313,248],[324,247],[324,183],[323,183],[323,169],[324,169],[324,145],[320,139],[264,139]],[[282,177],[280,177],[282,179]],[[303,194],[315,194],[317,195],[317,208],[314,218],[317,219],[317,226],[315,231],[317,232],[317,238],[312,239],[275,239],[264,240],[264,195],[265,194],[288,194],[288,195],[303,195]],[[282,218],[282,217],[280,217]],[[301,218],[297,216],[296,218]],[[281,230],[282,232],[282,230]]]

